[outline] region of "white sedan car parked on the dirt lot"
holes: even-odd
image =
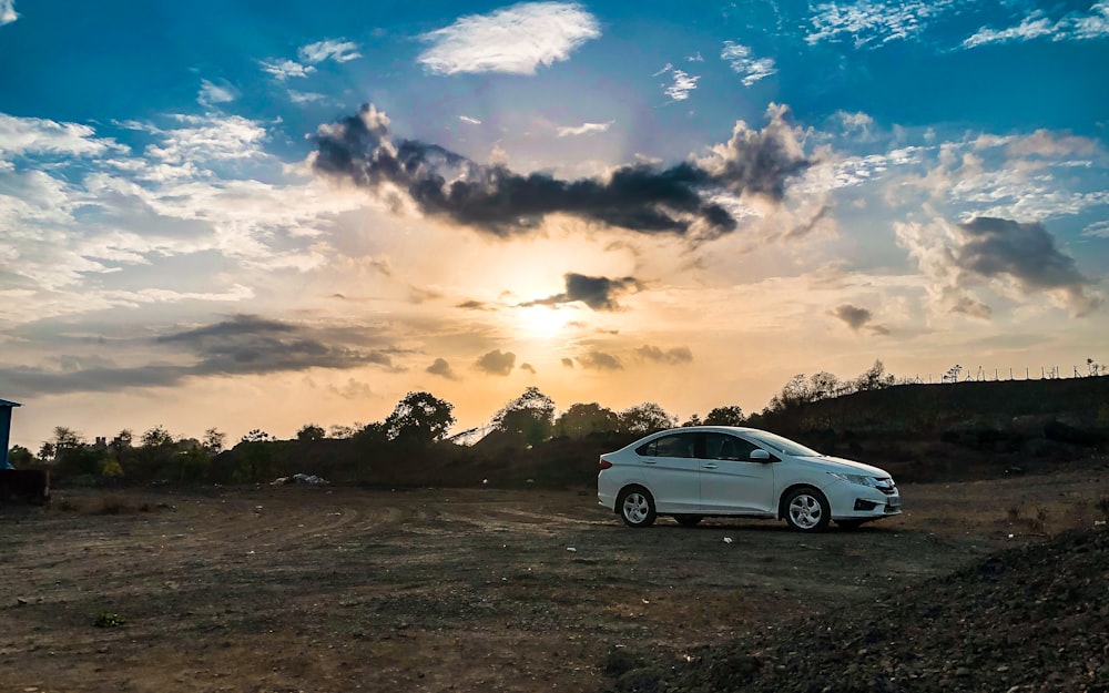
[[[630,527],[660,514],[784,518],[792,529],[845,528],[901,513],[893,478],[756,428],[694,426],[651,434],[601,456],[597,499]]]

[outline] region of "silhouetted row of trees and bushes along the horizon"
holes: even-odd
[[[759,426],[766,417],[807,402],[881,389],[897,383],[894,376],[886,374],[882,361],[875,361],[869,369],[849,380],[841,380],[826,371],[807,377],[801,374],[791,378],[761,414],[747,416],[740,406],[726,405],[711,409],[703,418],[694,414],[681,424],[678,416],[651,401],[620,411],[597,402],[578,402],[556,415],[554,401],[532,386],[494,415],[490,432],[509,444],[533,448],[553,439],[583,439],[597,434],[640,436],[679,425]],[[363,449],[450,445],[451,436],[448,434],[455,422],[454,405],[427,391],[413,391],[397,402],[383,421],[332,426],[328,430],[309,422],[296,431],[293,441],[352,440]],[[244,482],[260,481],[272,471],[268,445],[287,442],[262,429],[253,429],[233,448],[237,452],[236,466],[214,473],[214,461],[225,451],[226,438],[226,434],[215,428],[206,430],[200,439],[174,438],[163,426],[155,426],[139,436],[138,440],[131,429],[123,429],[111,440],[98,438],[90,444],[72,429],[59,426],[37,455],[14,446],[9,458],[16,467],[44,467],[63,478],[89,482],[112,482],[124,478],[129,481],[156,479],[179,482],[218,478]]]

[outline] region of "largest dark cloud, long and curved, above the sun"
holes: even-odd
[[[802,134],[773,106],[762,131],[736,123],[732,139],[698,162],[669,169],[625,165],[606,180],[561,181],[546,173],[521,175],[484,165],[435,144],[394,139],[389,119],[364,105],[357,115],[322,125],[314,170],[373,190],[400,191],[423,213],[508,236],[564,213],[641,233],[715,237],[736,221],[713,196],[723,191],[781,201],[790,177],[813,164]]]

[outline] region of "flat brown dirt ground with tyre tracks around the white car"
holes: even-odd
[[[0,690],[594,692],[614,650],[681,656],[1088,527],[1109,469],[902,496],[800,536],[632,530],[589,489],[55,490],[0,506]]]

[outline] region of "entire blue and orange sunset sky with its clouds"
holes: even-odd
[[[12,442],[1085,370],[1107,65],[1107,0],[0,0]]]

